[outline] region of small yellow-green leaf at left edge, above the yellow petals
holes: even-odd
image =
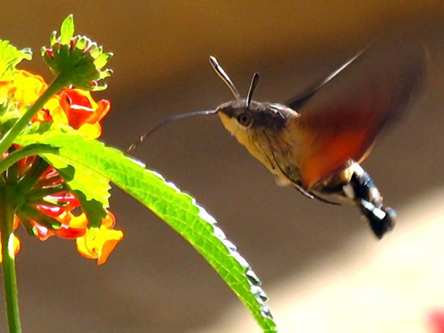
[[[31,49],[18,50],[8,40],[0,39],[0,80],[12,78],[17,64],[23,59],[32,59]]]

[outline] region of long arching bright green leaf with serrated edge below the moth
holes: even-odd
[[[36,142],[59,148],[57,155],[43,155],[49,163],[58,165],[63,161],[66,165],[72,165],[75,173],[81,168],[94,176],[109,179],[151,209],[213,266],[264,332],[276,332],[276,325],[266,306],[267,297],[260,287],[261,282],[233,243],[217,227],[214,218],[198,206],[191,196],[119,150],[106,147],[96,140],[85,139],[74,130],[54,127],[39,132],[31,126],[16,138],[15,143],[29,145]]]

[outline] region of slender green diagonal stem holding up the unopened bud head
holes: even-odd
[[[51,98],[54,94],[57,94],[59,90],[62,90],[71,80],[71,73],[69,72],[60,72],[60,74],[56,77],[54,81],[52,81],[51,85],[47,90],[36,100],[33,106],[31,106],[28,111],[20,118],[11,129],[6,132],[4,137],[0,140],[0,156],[2,156],[8,148],[14,142],[14,139],[17,135],[29,124],[32,117],[39,111],[48,99]]]

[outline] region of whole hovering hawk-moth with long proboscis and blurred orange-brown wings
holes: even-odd
[[[369,47],[320,83],[285,103],[256,102],[258,74],[242,98],[230,77],[210,56],[214,71],[234,95],[215,110],[166,118],[140,137],[137,147],[160,126],[198,115],[217,114],[224,127],[276,176],[304,196],[329,204],[329,197],[356,205],[377,238],[394,227],[395,211],[383,204],[360,163],[375,138],[407,109],[424,80],[422,47],[371,57]],[[356,67],[353,71],[350,67]]]

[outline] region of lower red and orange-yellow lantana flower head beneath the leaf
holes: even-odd
[[[39,163],[46,162],[40,157],[20,161],[18,172],[24,174],[22,179],[32,174]],[[21,222],[28,234],[42,241],[51,236],[75,239],[79,253],[86,258],[97,259],[101,265],[123,238],[123,232],[114,230],[115,218],[111,212],[107,212],[99,227],[92,227],[85,212],[75,212],[78,208],[81,208],[79,199],[69,191],[56,169],[48,166],[18,206],[14,229]],[[14,246],[18,252],[18,239]]]

